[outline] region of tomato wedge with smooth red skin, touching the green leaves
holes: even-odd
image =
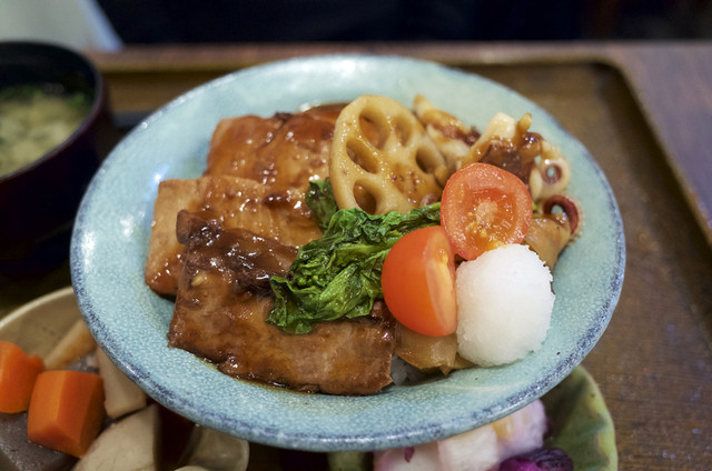
[[[439,226],[403,236],[383,264],[383,295],[393,315],[425,335],[448,335],[457,328],[455,253]]]

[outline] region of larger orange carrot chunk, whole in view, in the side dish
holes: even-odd
[[[34,384],[27,435],[42,447],[81,458],[99,434],[103,415],[99,374],[46,371]]]

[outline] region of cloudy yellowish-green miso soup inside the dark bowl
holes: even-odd
[[[0,90],[0,176],[13,172],[61,144],[91,106],[85,93],[14,86]]]

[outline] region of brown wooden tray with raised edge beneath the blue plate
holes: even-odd
[[[118,132],[106,147],[151,110],[248,62],[111,64],[103,71]],[[624,74],[595,60],[446,64],[541,104],[605,172],[624,221],[627,267],[611,324],[584,365],[616,424],[620,468],[709,469],[712,251]],[[67,264],[43,278],[0,280],[0,317],[68,283]]]

